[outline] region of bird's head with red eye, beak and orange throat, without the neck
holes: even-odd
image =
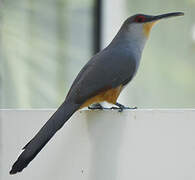
[[[123,24],[123,27],[131,34],[131,36],[144,36],[148,38],[150,30],[155,23],[157,23],[161,19],[182,15],[184,15],[184,13],[182,12],[174,12],[157,16],[136,14],[134,16],[129,17]]]

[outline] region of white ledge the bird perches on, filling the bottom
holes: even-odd
[[[0,110],[0,179],[195,179],[195,109],[75,113],[41,153],[15,176],[21,148],[54,110]]]

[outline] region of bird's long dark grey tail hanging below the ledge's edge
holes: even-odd
[[[26,144],[23,152],[13,164],[10,174],[21,172],[35,158],[52,136],[64,125],[64,123],[79,108],[79,105],[64,102],[52,117],[45,123],[34,138]]]

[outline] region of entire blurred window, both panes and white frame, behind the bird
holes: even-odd
[[[102,2],[101,38],[97,2]],[[2,9],[1,108],[57,107],[98,40],[104,48],[133,14],[173,11],[185,16],[153,27],[138,73],[119,101],[147,108],[195,107],[195,0],[6,0]]]

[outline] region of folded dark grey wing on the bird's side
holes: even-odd
[[[82,104],[103,90],[127,84],[136,69],[136,61],[128,54],[114,50],[101,51],[80,71],[66,99]]]

